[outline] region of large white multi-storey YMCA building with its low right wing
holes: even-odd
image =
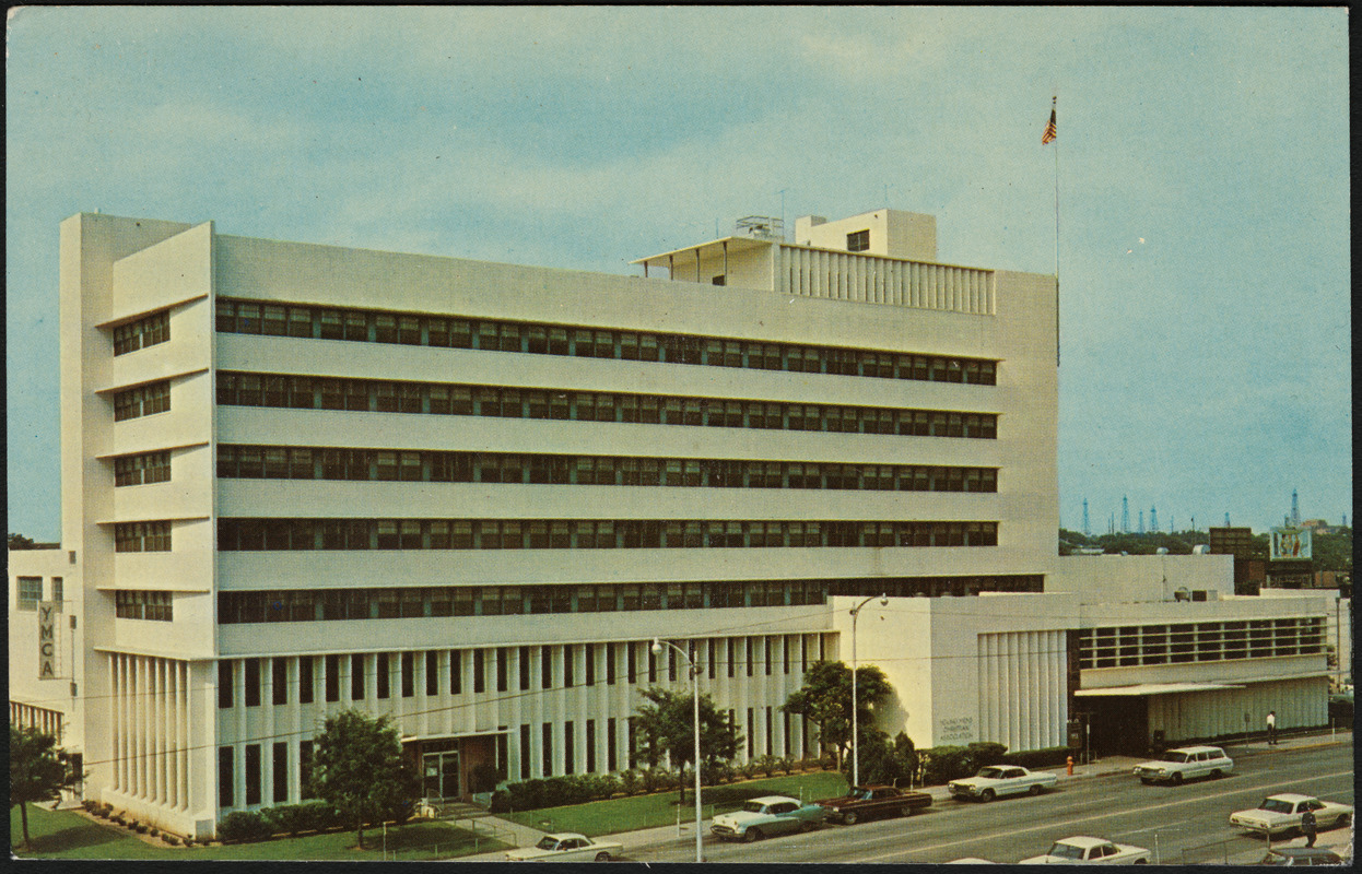
[[[779,708],[868,598],[878,727],[919,747],[1327,722],[1321,598],[1057,557],[1054,278],[944,264],[932,216],[636,276],[98,214],[60,252],[61,543],[10,553],[11,722],[163,829],[302,800],[351,707],[430,798],[621,771],[639,689],[689,682],[654,637],[740,758],[813,754]]]

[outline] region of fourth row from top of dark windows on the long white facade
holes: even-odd
[[[169,531],[165,536],[166,549],[169,549]],[[996,521],[218,520],[218,550],[221,551],[997,545],[998,523]]]

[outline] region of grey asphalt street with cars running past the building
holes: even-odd
[[[1257,807],[1265,795],[1303,792],[1354,803],[1350,745],[1273,750],[1235,761],[1235,772],[1184,786],[1143,786],[1133,775],[1073,780],[1038,798],[993,803],[943,800],[907,820],[854,826],[824,825],[809,835],[756,844],[706,836],[710,862],[730,863],[936,863],[964,856],[1017,862],[1043,854],[1061,837],[1092,835],[1156,851],[1165,864],[1260,858],[1264,840],[1230,825],[1230,813]],[[1348,826],[1351,828],[1351,826]],[[686,862],[693,839],[627,848],[625,859]]]

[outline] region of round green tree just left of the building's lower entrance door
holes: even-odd
[[[418,794],[396,726],[353,709],[327,719],[316,737],[312,777],[317,795],[354,824],[361,849],[365,822],[385,820]]]

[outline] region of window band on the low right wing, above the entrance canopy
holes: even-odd
[[[1324,619],[1293,617],[1084,629],[1079,667],[1224,662],[1324,652]]]

